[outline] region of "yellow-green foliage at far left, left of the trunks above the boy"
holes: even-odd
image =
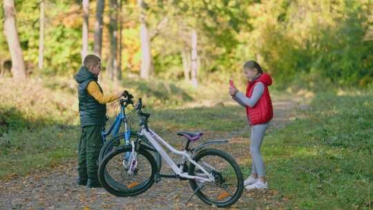
[[[37,70],[39,58],[39,2],[16,1],[16,19],[19,41],[28,70],[37,74],[72,75],[81,65],[82,20],[79,7],[71,1],[46,1],[44,32],[44,66]],[[3,11],[1,11],[3,19]],[[3,28],[3,21],[0,29]],[[1,30],[3,31],[3,30]],[[3,33],[0,35],[0,51],[8,52]],[[10,59],[4,53],[3,59]]]

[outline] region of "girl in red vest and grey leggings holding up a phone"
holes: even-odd
[[[272,84],[269,75],[263,73],[262,68],[256,61],[247,61],[243,66],[247,77],[246,95],[243,95],[234,86],[229,87],[229,94],[238,104],[246,108],[247,119],[251,126],[250,153],[252,160],[252,171],[249,178],[244,182],[246,189],[266,189],[265,165],[260,146],[272,119],[274,112],[268,86]]]

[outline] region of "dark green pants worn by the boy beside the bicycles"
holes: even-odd
[[[84,126],[78,146],[78,175],[80,180],[98,182],[99,150],[102,147],[102,126]]]

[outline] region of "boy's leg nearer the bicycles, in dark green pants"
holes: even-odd
[[[87,126],[87,172],[88,187],[100,187],[97,177],[99,151],[102,147],[102,126]]]

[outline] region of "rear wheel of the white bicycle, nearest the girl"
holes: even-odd
[[[243,175],[236,160],[218,149],[204,149],[193,160],[200,164],[215,179],[214,182],[199,182],[191,179],[189,184],[203,202],[216,207],[229,207],[241,197],[244,188]],[[189,164],[189,175],[207,178],[197,166]]]

